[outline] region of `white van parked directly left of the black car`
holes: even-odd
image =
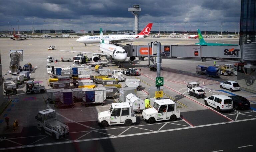
[[[233,110],[232,99],[225,95],[213,95],[208,98],[204,98],[204,103],[206,106],[209,105],[216,108],[218,112]]]

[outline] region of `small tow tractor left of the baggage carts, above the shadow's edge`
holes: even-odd
[[[33,93],[45,93],[45,87],[43,85],[39,85],[38,82],[34,82],[34,80],[32,81],[27,81],[26,84],[26,93],[29,94],[33,94]]]

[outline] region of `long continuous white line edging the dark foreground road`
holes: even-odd
[[[227,124],[227,123],[237,123],[237,122],[250,121],[250,120],[256,120],[256,118],[253,118],[253,119],[245,119],[245,120],[238,120],[238,121],[229,121],[229,122],[225,122],[225,123],[222,122],[222,123],[216,123],[216,124],[208,124],[208,125],[194,126],[194,127],[184,127],[184,128],[176,128],[176,129],[168,129],[168,130],[144,132],[144,133],[137,133],[137,134],[129,134],[129,135],[118,135],[118,136],[109,136],[109,137],[102,137],[102,138],[92,138],[92,139],[73,140],[73,141],[65,141],[65,142],[54,142],[54,143],[46,143],[46,144],[37,144],[37,145],[27,145],[27,146],[17,146],[17,147],[9,147],[9,148],[0,148],[0,150],[18,149],[18,148],[27,148],[27,147],[38,147],[38,146],[57,145],[57,144],[68,144],[68,143],[75,143],[75,142],[85,142],[85,141],[94,141],[94,140],[103,140],[103,139],[112,139],[112,138],[122,138],[122,137],[137,136],[137,135],[145,135],[145,134],[151,134],[151,133],[170,132],[170,131],[176,131],[176,130],[184,130],[184,129],[191,129],[191,128],[200,128],[200,127],[221,125],[221,124]],[[113,129],[116,129],[116,128],[113,128]],[[248,145],[248,146],[251,146],[251,145]]]

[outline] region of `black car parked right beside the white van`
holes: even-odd
[[[250,102],[242,96],[229,96],[233,100],[233,108],[250,109]]]

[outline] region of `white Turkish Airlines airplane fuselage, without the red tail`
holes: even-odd
[[[133,42],[144,38],[144,35],[105,35],[103,36],[104,41],[118,41],[122,39],[122,42]],[[100,36],[83,36],[76,40],[80,43],[90,44],[90,43],[100,43]]]

